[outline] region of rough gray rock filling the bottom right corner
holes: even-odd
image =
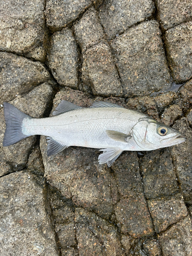
[[[164,256],[191,256],[192,226],[186,217],[159,235]]]

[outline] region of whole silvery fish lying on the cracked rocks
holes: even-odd
[[[32,118],[4,102],[4,146],[33,135],[47,136],[48,157],[69,146],[99,148],[99,164],[110,167],[123,151],[152,151],[184,142],[181,133],[138,111],[95,101],[82,108],[62,100],[53,117]]]

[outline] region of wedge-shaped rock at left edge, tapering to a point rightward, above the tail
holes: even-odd
[[[5,52],[0,52],[0,59],[0,104],[50,79],[40,62]]]

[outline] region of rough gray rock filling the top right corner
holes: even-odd
[[[192,3],[190,0],[158,0],[157,9],[162,29],[173,28],[192,18]]]

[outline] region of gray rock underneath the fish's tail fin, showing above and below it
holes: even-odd
[[[48,83],[43,83],[34,88],[26,95],[19,95],[10,103],[16,106],[20,111],[35,118],[42,117],[47,108],[47,104],[52,97],[52,87]],[[5,120],[1,121],[1,135],[5,133]],[[0,145],[3,143],[1,136]],[[17,142],[14,145],[4,147],[6,161],[9,162],[14,169],[24,168],[27,164],[29,153],[34,146],[36,136],[30,136]]]

